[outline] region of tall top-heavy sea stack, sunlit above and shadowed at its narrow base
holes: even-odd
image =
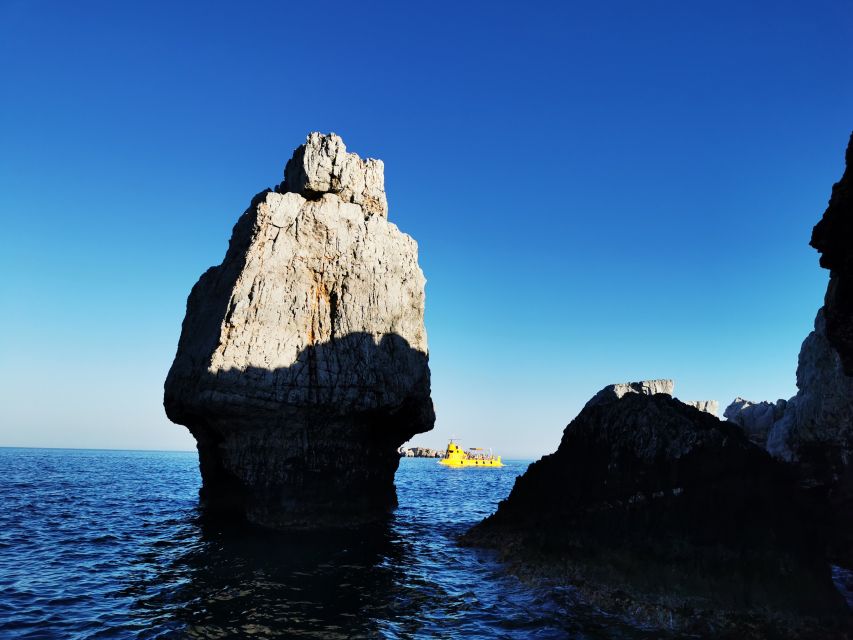
[[[193,287],[166,379],[211,511],[310,528],[396,504],[397,449],[435,420],[424,285],[382,162],[312,133]]]

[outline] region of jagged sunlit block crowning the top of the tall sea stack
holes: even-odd
[[[373,158],[347,153],[340,136],[310,133],[287,161],[279,191],[316,199],[334,193],[344,202],[359,205],[365,216],[388,216],[385,165]]]

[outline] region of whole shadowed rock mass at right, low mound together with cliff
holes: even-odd
[[[853,136],[846,160],[812,235],[831,275],[794,398],[720,421],[670,381],[606,387],[462,542],[655,626],[851,637],[830,565],[853,568]]]

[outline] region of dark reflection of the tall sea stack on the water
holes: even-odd
[[[175,588],[138,603],[171,610],[170,626],[190,637],[375,637],[407,597],[394,575],[405,543],[390,523],[323,535],[199,529],[194,548],[155,579]]]

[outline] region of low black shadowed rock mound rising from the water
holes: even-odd
[[[785,465],[669,395],[601,395],[463,542],[496,547],[519,571],[570,582],[605,608],[698,633],[739,617],[765,631],[774,618],[782,631],[821,616],[846,624]]]

